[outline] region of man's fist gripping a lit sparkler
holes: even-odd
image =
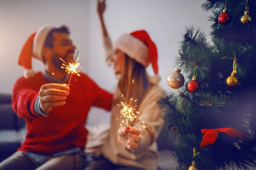
[[[49,112],[53,107],[65,105],[69,90],[68,86],[57,83],[42,85],[38,95],[42,111]]]

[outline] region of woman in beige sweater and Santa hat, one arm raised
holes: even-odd
[[[119,37],[114,43],[116,50],[113,52],[103,20],[104,11],[105,0],[98,0],[107,61],[113,62],[115,74],[120,76],[113,98],[110,136],[102,147],[103,159],[85,170],[156,170],[156,139],[163,125],[164,114],[157,105],[157,101],[164,96],[163,90],[156,84],[160,80],[157,75],[157,48],[146,31],[142,30]],[[156,74],[154,77],[149,77],[145,70],[149,63]],[[141,115],[133,122],[129,121],[128,126],[124,122],[125,125],[120,127],[123,119],[118,105],[123,99],[122,94],[124,102],[128,104],[132,96],[131,105],[137,105],[136,109]]]

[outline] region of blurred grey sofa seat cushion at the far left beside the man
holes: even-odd
[[[0,130],[0,152],[17,150],[20,140],[20,133],[16,130]]]

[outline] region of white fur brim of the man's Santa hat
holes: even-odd
[[[33,55],[36,59],[42,61],[42,51],[44,47],[44,43],[49,32],[54,29],[52,26],[43,26],[38,29],[35,34],[34,42],[33,42]]]

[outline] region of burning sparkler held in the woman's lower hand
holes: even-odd
[[[134,83],[134,80],[132,81],[132,83]],[[125,100],[125,97],[124,97],[123,94],[122,94],[121,97]],[[118,106],[122,107],[120,109],[120,114],[121,114],[120,118],[121,117],[125,118],[125,120],[121,121],[121,124],[119,126],[122,126],[122,125],[127,125],[128,126],[129,122],[134,123],[134,120],[138,117],[138,114],[141,114],[139,111],[136,111],[137,105],[134,106],[134,107],[131,105],[132,101],[133,101],[133,98],[132,98],[132,93],[131,93],[130,94],[130,103],[129,104],[127,104],[126,102],[122,102],[122,101],[121,101],[121,105],[117,104]],[[136,101],[137,101],[137,99],[135,99],[134,102],[136,102]],[[141,119],[142,117],[143,117],[143,115],[140,116],[139,119]],[[118,120],[117,117],[116,117],[116,120]],[[142,126],[143,129],[145,129],[145,125],[144,124],[145,124],[145,122],[143,121],[143,126]],[[119,133],[119,131],[117,133]]]

